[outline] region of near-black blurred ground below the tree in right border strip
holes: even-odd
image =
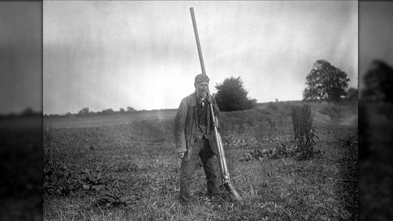
[[[367,137],[369,151],[360,157],[359,173],[359,219],[392,220],[393,211],[393,104],[385,102],[365,102]],[[360,107],[360,106],[359,106]],[[359,131],[359,133],[361,133]],[[359,134],[360,136],[360,134]],[[364,142],[364,141],[363,141]]]

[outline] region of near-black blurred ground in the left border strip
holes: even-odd
[[[42,117],[0,122],[0,220],[42,220]]]

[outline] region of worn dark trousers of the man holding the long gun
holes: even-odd
[[[206,182],[208,186],[208,195],[212,196],[220,194],[220,190],[217,185],[216,176],[216,163],[214,153],[210,147],[209,140],[205,137],[202,140],[195,140],[193,146],[193,152],[191,158],[188,161],[181,160],[180,168],[180,198],[185,201],[190,201],[190,186],[192,181],[192,174],[195,169],[198,157],[204,166],[206,174]]]

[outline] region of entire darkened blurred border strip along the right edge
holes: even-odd
[[[359,3],[359,220],[393,218],[393,3]]]

